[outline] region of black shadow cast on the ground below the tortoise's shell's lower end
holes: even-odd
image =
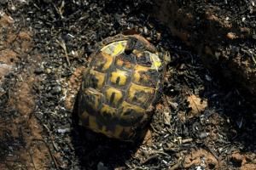
[[[79,126],[76,114],[77,102],[73,111],[71,137],[76,156],[81,169],[107,169],[125,167],[125,161],[131,159],[140,143],[131,144],[108,139],[102,134],[93,133]]]

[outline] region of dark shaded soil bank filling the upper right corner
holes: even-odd
[[[155,3],[150,14],[193,48],[208,69],[256,94],[254,0]]]

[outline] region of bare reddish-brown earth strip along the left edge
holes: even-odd
[[[0,161],[0,169],[9,167],[20,169],[49,169],[52,156],[49,154],[49,146],[42,137],[43,127],[33,115],[36,109],[35,94],[32,92],[33,83],[38,77],[32,74],[40,57],[29,59],[29,51],[32,50],[32,34],[29,31],[21,31],[14,26],[14,20],[4,14],[0,20],[1,27],[1,51],[0,51],[0,84],[5,81],[4,77],[10,72],[15,73],[16,63],[22,59],[29,61],[25,71],[17,75],[14,91],[9,92],[10,111],[16,111],[17,116],[0,123],[0,138],[4,139],[6,132],[13,138],[24,141],[22,147],[12,155],[6,156],[4,162]],[[1,94],[0,94],[1,96]],[[1,120],[1,119],[0,119]],[[25,167],[20,167],[21,164]]]

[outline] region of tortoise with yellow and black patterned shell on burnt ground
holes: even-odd
[[[96,47],[79,89],[79,124],[113,139],[142,139],[169,55],[138,34],[107,37]]]

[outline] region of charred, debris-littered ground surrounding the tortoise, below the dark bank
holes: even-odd
[[[252,94],[144,13],[150,1],[51,2],[0,3],[0,169],[256,169]],[[172,55],[137,145],[90,133],[73,113],[96,42],[131,28]]]

